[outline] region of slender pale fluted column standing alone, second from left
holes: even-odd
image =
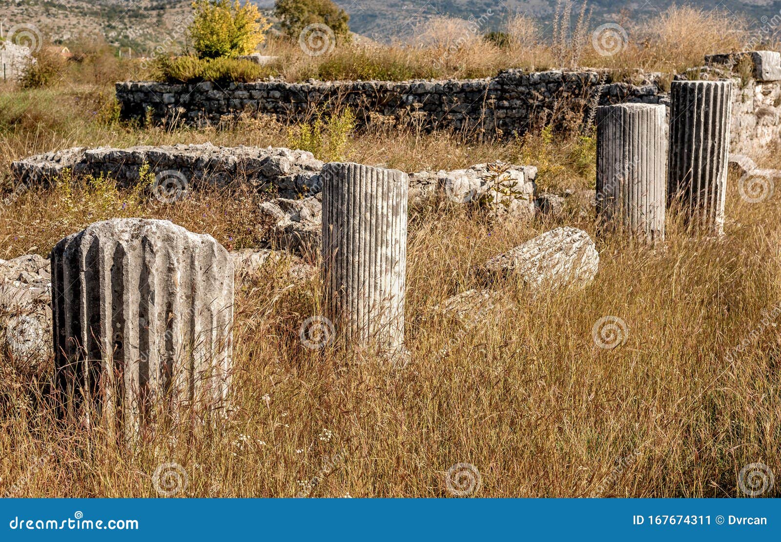
[[[323,167],[326,316],[358,345],[404,348],[406,173],[354,163]]]

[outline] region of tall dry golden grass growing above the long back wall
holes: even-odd
[[[493,77],[507,68],[575,66],[673,73],[701,66],[704,55],[742,50],[751,36],[739,16],[690,6],[673,5],[658,17],[640,21],[619,16],[624,34],[608,30],[606,37],[597,34],[596,39],[599,25],[588,20],[587,12],[574,19],[571,28],[560,24],[551,39],[535,20],[510,16],[501,27],[508,40],[501,47],[482,38],[487,25],[479,20],[437,17],[409,44],[361,41],[310,57],[298,44],[269,40],[264,52],[280,56],[273,67],[287,80]]]

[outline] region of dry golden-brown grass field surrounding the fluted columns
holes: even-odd
[[[105,123],[92,114],[94,96],[88,87],[0,95],[0,176],[8,178],[12,159],[75,144],[288,141],[287,127],[269,123],[221,131]],[[593,141],[582,137],[479,144],[409,129],[351,137],[344,154],[407,170],[531,163],[540,190],[594,182]],[[654,250],[600,238],[589,287],[531,292],[500,282],[494,288],[514,304],[474,323],[421,317],[481,287],[474,264],[558,225],[594,236],[593,217],[571,209],[500,225],[461,209],[413,214],[405,369],[304,348],[298,327],[317,312],[319,283],[291,287],[266,269],[237,294],[230,418],[168,427],[130,449],[98,428],[59,426],[35,404],[41,383],[4,358],[0,492],[156,497],[155,469],[176,462],[188,480],[179,496],[292,497],[319,476],[312,497],[445,497],[445,472],[468,462],[482,478],[476,497],[742,496],[744,465],[781,472],[781,339],[769,317],[781,293],[781,200],[748,204],[730,181],[722,239],[691,239],[674,219]],[[264,234],[254,194],[160,205],[105,185],[63,190],[31,189],[5,206],[0,257],[45,255],[66,234],[113,216],[173,219],[233,248],[256,246]],[[617,348],[595,344],[604,316],[626,323]]]

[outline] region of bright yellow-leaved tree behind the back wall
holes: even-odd
[[[249,55],[266,39],[271,23],[250,2],[196,0],[194,18],[187,28],[201,59]]]

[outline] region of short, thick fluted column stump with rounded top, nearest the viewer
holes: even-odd
[[[66,415],[97,413],[127,433],[152,412],[223,408],[233,302],[226,249],[168,220],[106,220],[59,241],[52,315]]]

